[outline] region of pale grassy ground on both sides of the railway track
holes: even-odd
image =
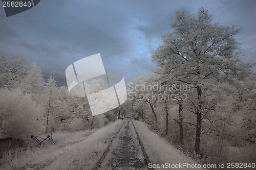
[[[93,169],[123,122],[124,120],[117,120],[98,130],[54,133],[53,139],[56,141],[54,145],[47,148],[45,146],[32,148],[12,156],[6,155],[0,159],[2,161],[0,169]],[[169,169],[203,169],[184,167],[183,163],[195,166],[198,162],[148,130],[144,123],[135,120],[133,122],[147,156],[152,162],[152,167],[164,163],[166,166],[166,163],[170,163],[173,166],[179,164],[183,166]]]

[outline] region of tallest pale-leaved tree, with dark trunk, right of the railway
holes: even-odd
[[[212,23],[212,16],[200,8],[197,16],[184,12],[175,13],[175,21],[170,23],[172,33],[162,35],[163,44],[152,55],[161,68],[161,74],[178,82],[193,85],[191,104],[196,114],[195,152],[199,153],[201,122],[204,108],[202,99],[206,84],[204,81],[248,74],[249,65],[240,61],[238,42],[234,39],[240,29],[235,26],[219,26]],[[174,76],[172,76],[174,75]],[[223,79],[221,79],[223,78]]]

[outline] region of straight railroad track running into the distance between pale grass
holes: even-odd
[[[108,157],[106,157],[108,155]],[[125,120],[94,170],[152,169],[133,120]]]

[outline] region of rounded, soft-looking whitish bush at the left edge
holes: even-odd
[[[1,89],[0,93],[0,138],[26,140],[30,135],[41,133],[37,115],[42,114],[42,108],[30,94],[23,94],[21,89]]]

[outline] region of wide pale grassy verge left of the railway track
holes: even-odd
[[[117,120],[97,131],[53,134],[56,144],[6,155],[0,169],[93,169],[122,123]]]

